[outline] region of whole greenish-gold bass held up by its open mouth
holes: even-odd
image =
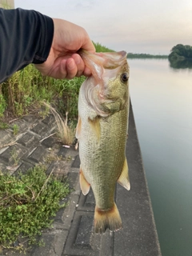
[[[116,182],[130,190],[126,139],[130,108],[126,51],[79,54],[92,75],[78,95],[79,182],[82,194],[94,192],[94,231],[122,228],[114,202]]]

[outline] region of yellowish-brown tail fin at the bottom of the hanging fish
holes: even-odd
[[[116,231],[122,228],[122,219],[118,212],[118,207],[114,206],[110,210],[100,210],[95,207],[94,211],[94,231],[103,234],[106,229]]]

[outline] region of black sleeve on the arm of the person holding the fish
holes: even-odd
[[[34,10],[0,8],[0,83],[30,63],[45,62],[53,35],[52,18]]]

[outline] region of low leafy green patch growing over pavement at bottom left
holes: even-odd
[[[42,229],[50,227],[56,212],[66,206],[60,203],[70,193],[65,181],[47,177],[45,167],[36,166],[19,177],[0,176],[0,244],[37,242]]]

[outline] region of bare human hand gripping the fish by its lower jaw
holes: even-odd
[[[81,76],[90,76],[91,71],[85,66],[77,51],[84,50],[95,52],[89,35],[81,26],[62,19],[53,18],[54,38],[50,54],[46,62],[36,64],[36,68],[43,74],[52,78],[71,79]]]

